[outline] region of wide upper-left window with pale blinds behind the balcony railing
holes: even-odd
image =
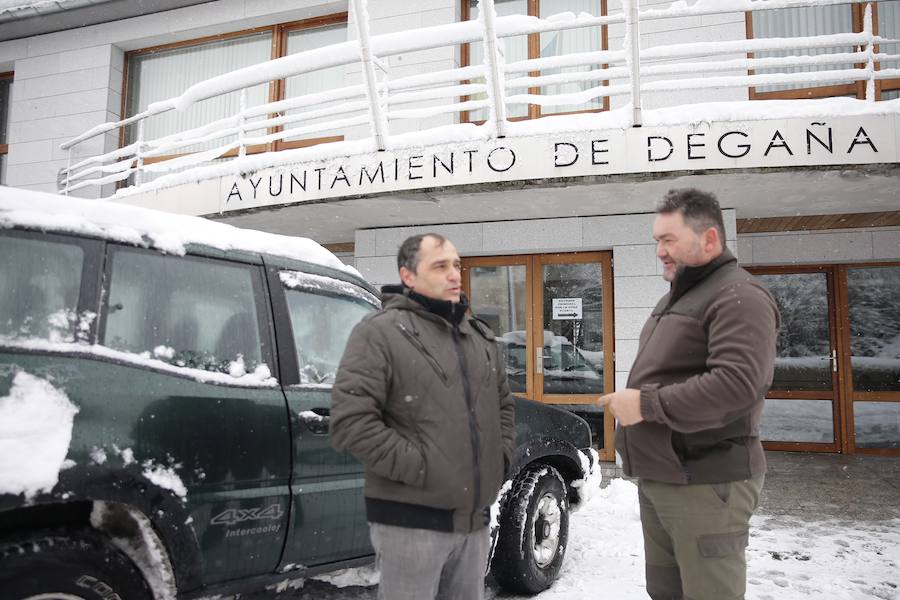
[[[125,59],[124,114],[127,117],[140,113],[153,102],[178,96],[191,85],[217,75],[270,59],[346,41],[346,31],[347,13],[339,13],[296,23],[129,52]],[[313,75],[298,75],[285,81],[260,84],[248,88],[246,106],[259,106],[270,101],[341,87],[344,83],[349,83],[351,78],[346,79],[345,82],[344,67],[333,67],[327,71],[318,71]],[[234,115],[239,110],[240,96],[241,92],[235,91],[198,102],[184,111],[168,111],[150,117],[144,121],[144,139],[157,139]],[[299,111],[293,111],[294,114],[296,112]],[[287,114],[290,115],[292,112]],[[265,118],[267,118],[266,115],[257,117],[258,120]],[[314,122],[304,122],[303,125]],[[297,127],[297,125],[294,124],[293,127]],[[275,129],[270,129],[268,133],[275,131]],[[266,133],[265,130],[260,130],[253,132],[253,135],[262,136]],[[134,142],[137,135],[136,125],[125,128],[122,144]],[[221,137],[202,145],[181,146],[173,149],[172,154],[148,157],[144,162],[151,164],[179,154],[219,147],[233,139],[234,137]],[[315,132],[310,136],[250,146],[247,148],[247,153],[295,148],[340,139],[342,138],[339,132]],[[236,151],[231,151],[225,156],[236,155]]]

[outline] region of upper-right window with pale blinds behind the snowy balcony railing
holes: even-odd
[[[876,35],[896,38],[900,7],[896,2],[872,2],[873,29]],[[866,4],[840,4],[834,6],[816,6],[805,8],[786,8],[779,10],[763,10],[747,13],[748,38],[792,38],[812,35],[829,35],[860,32],[864,27]],[[898,44],[883,44],[879,50],[884,53],[896,53]],[[784,56],[821,56],[853,52],[852,46],[833,46],[828,48],[792,48],[787,50],[756,52],[755,58],[772,58]],[[898,61],[876,63],[876,68],[897,68]],[[777,69],[758,69],[756,74],[764,73],[801,73],[832,69],[850,68],[844,63],[821,64],[803,67],[780,67]],[[750,89],[751,99],[766,98],[822,98],[828,96],[851,96],[865,98],[865,82],[855,83],[823,83],[817,85],[790,84],[767,85]],[[880,81],[876,85],[876,99],[887,100],[897,97],[900,90],[900,79]]]

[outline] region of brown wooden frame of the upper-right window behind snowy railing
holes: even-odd
[[[860,4],[849,5],[851,10],[851,22],[854,33],[860,33],[863,30],[863,22],[865,20],[866,7],[872,6],[872,31],[878,35],[878,2],[864,2]],[[815,7],[812,7],[815,8]],[[753,12],[744,13],[746,25],[746,39],[752,40],[753,37]],[[875,45],[875,52],[879,51],[879,46]],[[753,52],[747,53],[747,58],[752,59]],[[864,67],[864,64],[857,64],[857,67]],[[881,63],[876,63],[875,70],[881,70]],[[755,71],[748,69],[747,74],[753,75]],[[882,91],[900,90],[900,78],[880,79],[875,81],[875,100],[881,100]],[[838,96],[853,96],[854,98],[864,100],[866,97],[866,82],[857,81],[855,83],[843,83],[835,85],[825,85],[811,88],[795,88],[790,90],[777,90],[771,92],[757,92],[755,86],[748,88],[750,100],[804,100],[812,98],[833,98]]]

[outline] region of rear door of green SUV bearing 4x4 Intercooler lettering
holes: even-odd
[[[110,460],[183,485],[205,583],[271,573],[287,530],[290,437],[261,260],[107,247],[108,360],[86,384],[113,414],[82,414],[82,427],[117,423],[94,436]]]

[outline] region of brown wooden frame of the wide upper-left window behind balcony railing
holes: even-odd
[[[241,29],[238,31],[230,31],[227,33],[221,33],[216,35],[209,35],[199,38],[192,38],[188,40],[182,40],[179,42],[172,42],[168,44],[160,44],[157,46],[149,46],[147,48],[140,48],[137,50],[130,50],[125,53],[124,58],[124,68],[122,69],[122,102],[120,106],[119,114],[122,115],[122,118],[126,118],[127,113],[126,110],[128,108],[128,94],[131,91],[128,87],[128,76],[129,76],[129,65],[131,64],[131,59],[135,56],[141,56],[145,54],[153,54],[155,52],[160,52],[164,50],[174,50],[178,48],[187,48],[191,46],[200,46],[203,44],[208,44],[212,42],[220,42],[223,40],[229,40],[234,38],[246,37],[253,35],[255,33],[263,33],[270,32],[272,34],[272,43],[271,43],[271,51],[269,53],[269,60],[274,60],[276,58],[281,58],[286,56],[287,51],[287,37],[289,32],[299,31],[303,29],[315,29],[317,27],[327,27],[329,25],[339,25],[348,23],[347,12],[338,12],[329,15],[323,15],[320,17],[312,17],[309,19],[302,19],[300,21],[290,21],[287,23],[279,23],[276,25],[267,25],[263,27],[253,27],[250,29]],[[0,74],[2,76],[2,74]],[[285,81],[283,79],[274,80],[269,82],[269,94],[267,102],[277,102],[279,100],[284,99],[285,92]],[[274,117],[274,114],[268,115],[270,118]],[[278,131],[281,131],[282,127],[274,127],[269,128],[267,133],[272,134]],[[291,148],[306,148],[309,146],[315,146],[316,144],[323,144],[329,142],[339,142],[343,141],[344,136],[324,136],[317,138],[308,138],[304,140],[293,140],[293,141],[284,141],[277,140],[275,142],[270,142],[268,144],[255,144],[253,146],[246,147],[246,154],[260,154],[263,152],[277,152],[280,150],[286,150]],[[126,129],[124,127],[119,129],[119,147],[122,148],[127,145],[126,139]],[[166,160],[171,160],[173,158],[178,158],[180,156],[185,156],[187,153],[181,154],[167,154],[163,156],[154,156],[151,158],[145,158],[144,164],[153,164],[157,162],[162,162]],[[222,158],[235,158],[238,156],[238,151],[230,150],[222,155]],[[120,186],[126,185],[125,182],[120,182]]]

